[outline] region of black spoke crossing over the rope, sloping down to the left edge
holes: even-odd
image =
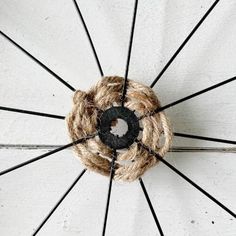
[[[1,175],[5,175],[5,174],[7,174],[7,173],[9,173],[9,172],[12,172],[12,171],[14,171],[14,170],[16,170],[16,169],[19,169],[19,168],[21,168],[21,167],[23,167],[23,166],[26,166],[26,165],[28,165],[28,164],[31,164],[31,163],[33,163],[33,162],[35,162],[35,161],[41,160],[41,159],[43,159],[43,158],[45,158],[45,157],[48,157],[48,156],[50,156],[50,155],[52,155],[52,154],[54,154],[54,153],[60,152],[60,151],[62,151],[62,150],[64,150],[64,149],[66,149],[66,148],[72,147],[72,146],[74,146],[74,145],[76,145],[76,144],[78,144],[78,143],[84,142],[84,141],[86,141],[87,139],[93,138],[94,136],[95,136],[95,135],[91,135],[91,136],[88,136],[88,137],[85,137],[85,138],[78,139],[78,140],[76,140],[76,141],[74,141],[74,142],[72,142],[72,143],[69,143],[69,144],[64,145],[64,146],[62,146],[62,147],[59,147],[59,148],[56,148],[56,149],[54,149],[54,150],[52,150],[52,151],[49,151],[49,152],[47,152],[47,153],[45,153],[45,154],[43,154],[43,155],[40,155],[40,156],[38,156],[38,157],[32,158],[32,159],[30,159],[30,160],[28,160],[28,161],[25,161],[25,162],[22,162],[22,163],[20,163],[20,164],[18,164],[18,165],[15,165],[15,166],[13,166],[13,167],[11,167],[11,168],[8,168],[8,169],[6,169],[6,170],[3,170],[3,171],[0,172],[0,176],[1,176]]]

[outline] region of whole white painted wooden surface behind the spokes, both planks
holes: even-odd
[[[140,1],[131,79],[150,85],[212,0]],[[78,1],[105,75],[124,75],[133,1]],[[236,74],[236,3],[221,1],[154,90],[162,104]],[[1,0],[0,29],[80,89],[99,73],[72,1]],[[0,37],[0,105],[66,115],[72,93]],[[236,83],[166,111],[176,132],[236,139]],[[5,145],[68,143],[64,121],[0,112],[1,170],[47,150]],[[232,145],[176,138],[176,147]],[[220,150],[220,149],[219,149]],[[235,153],[169,153],[176,167],[236,210]],[[66,190],[81,164],[71,150],[0,178],[0,235],[30,235]],[[166,235],[235,235],[226,212],[160,165],[145,183]],[[86,174],[40,235],[100,235],[108,180]],[[158,235],[137,182],[116,183],[107,235]],[[213,223],[214,222],[214,223]]]

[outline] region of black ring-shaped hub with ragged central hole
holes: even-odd
[[[112,122],[124,120],[128,131],[121,137],[111,133]],[[98,135],[101,141],[112,149],[128,148],[139,135],[139,120],[133,111],[126,107],[111,107],[104,111],[98,120]]]

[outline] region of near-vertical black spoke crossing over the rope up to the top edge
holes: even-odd
[[[135,28],[135,21],[136,21],[136,15],[137,15],[137,8],[138,8],[138,0],[135,0],[135,3],[134,3],[134,13],[133,13],[133,21],[132,21],[131,32],[130,32],[130,39],[129,39],[128,56],[127,56],[126,69],[125,69],[124,85],[123,85],[123,91],[122,91],[122,97],[121,97],[121,106],[122,107],[124,106],[125,96],[126,96],[126,92],[127,92],[127,82],[128,82],[128,74],[129,74],[129,63],[130,63],[130,57],[131,57],[131,51],[132,51],[132,45],[133,45],[133,37],[134,37],[134,28]]]

